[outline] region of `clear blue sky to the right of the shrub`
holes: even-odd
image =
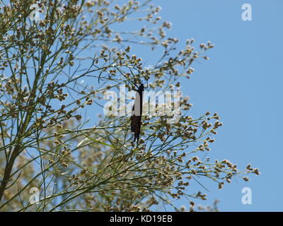
[[[191,114],[218,112],[224,126],[209,153],[243,169],[251,163],[260,176],[238,178],[218,190],[207,186],[208,203],[219,199],[221,211],[279,211],[282,207],[282,64],[283,1],[161,1],[161,17],[173,23],[168,33],[180,42],[210,40],[209,61],[193,64],[195,73],[182,83],[190,96]],[[252,6],[252,21],[243,21],[243,4]],[[144,50],[148,51],[148,50]],[[147,52],[148,53],[148,52]],[[146,52],[144,60],[150,59]],[[252,204],[243,205],[243,187],[252,190]],[[184,203],[187,206],[187,203]]]

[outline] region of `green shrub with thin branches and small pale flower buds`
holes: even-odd
[[[193,200],[207,198],[192,186],[202,177],[221,189],[232,177],[259,174],[250,165],[239,171],[228,160],[198,157],[222,124],[209,112],[190,117],[187,97],[175,124],[144,116],[137,146],[127,116],[88,126],[87,109],[103,105],[105,91],[123,84],[132,90],[142,79],[149,90],[179,89],[213,44],[187,40],[178,51],[178,40],[166,36],[171,23],[150,1],[42,0],[40,21],[30,20],[33,3],[2,1],[0,8],[0,210],[145,211],[158,203],[183,210],[173,205],[178,198],[193,210]],[[125,31],[124,23],[134,29]],[[129,45],[160,58],[146,65]],[[38,205],[30,203],[32,187],[40,191]]]

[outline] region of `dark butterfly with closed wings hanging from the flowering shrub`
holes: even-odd
[[[142,92],[144,91],[144,85],[141,83],[136,93],[136,99],[134,100],[134,106],[132,108],[131,116],[131,131],[134,133],[134,141],[137,140],[137,145],[139,144],[139,134],[141,133],[141,113],[142,113]]]

